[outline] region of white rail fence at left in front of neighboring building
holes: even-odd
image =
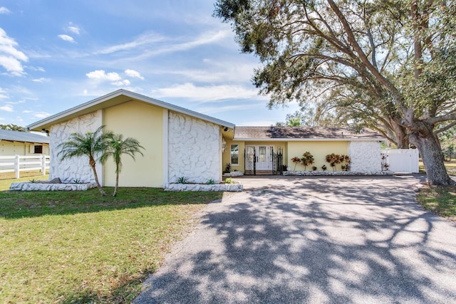
[[[49,155],[14,155],[0,156],[0,173],[15,172],[19,179],[19,172],[40,170],[46,175],[49,169]]]

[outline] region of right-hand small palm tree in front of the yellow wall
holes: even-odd
[[[119,187],[119,173],[122,169],[122,154],[128,154],[130,157],[135,159],[135,154],[140,153],[141,149],[144,149],[138,140],[135,138],[128,137],[123,139],[123,135],[121,134],[111,134],[108,140],[108,150],[106,154],[103,155],[103,160],[105,157],[112,156],[115,162],[115,188],[113,196],[117,195],[118,187]]]

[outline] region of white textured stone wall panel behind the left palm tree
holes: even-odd
[[[61,161],[58,156],[58,145],[65,142],[73,132],[86,133],[87,131],[95,131],[102,125],[101,110],[91,112],[86,115],[67,120],[51,126],[49,130],[49,139],[51,147],[51,163],[49,164],[49,179],[60,177],[62,182],[74,182],[78,179],[81,182],[95,182],[92,168],[88,164],[87,157],[73,157]],[[98,179],[100,184],[103,184],[103,170],[100,169],[100,164],[96,166]]]

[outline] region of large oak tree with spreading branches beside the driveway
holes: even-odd
[[[218,0],[270,105],[338,96],[415,145],[431,184],[448,185],[436,133],[456,122],[454,1]]]

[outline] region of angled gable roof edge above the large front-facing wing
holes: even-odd
[[[87,103],[83,103],[81,105],[77,105],[74,108],[69,110],[57,113],[56,115],[52,115],[46,117],[43,120],[38,122],[34,122],[31,125],[28,125],[29,130],[41,130],[43,128],[48,129],[51,125],[54,125],[59,122],[64,122],[66,120],[70,120],[72,118],[88,114],[90,112],[94,112],[96,110],[101,110],[103,108],[108,108],[113,105],[119,105],[120,103],[125,103],[130,100],[140,101],[142,103],[149,103],[150,105],[156,105],[161,108],[165,108],[167,110],[172,110],[174,112],[179,112],[185,115],[189,115],[192,117],[199,118],[201,120],[205,120],[207,122],[212,122],[216,125],[221,125],[223,127],[234,128],[234,124],[231,122],[226,122],[224,120],[219,120],[217,118],[201,114],[199,112],[195,112],[192,110],[187,110],[185,108],[178,107],[177,105],[172,105],[170,103],[165,103],[164,101],[157,100],[155,98],[150,98],[145,95],[140,95],[138,93],[130,92],[129,90],[116,90],[113,93],[109,93],[107,95],[101,96],[99,98],[95,98],[94,100],[90,100]]]

